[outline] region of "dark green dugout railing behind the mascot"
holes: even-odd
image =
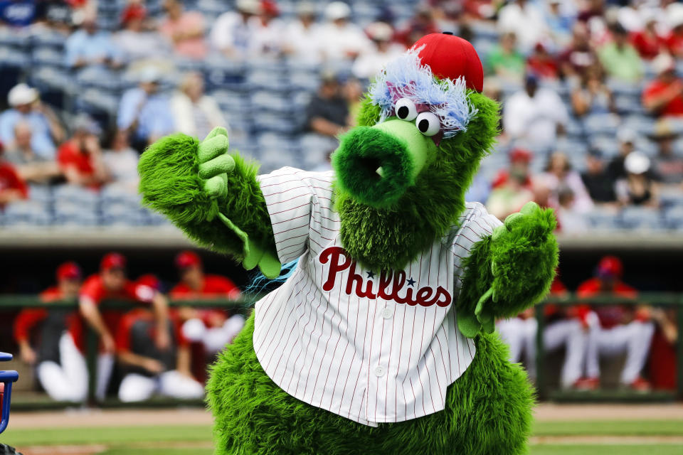
[[[181,300],[169,301],[170,306],[193,306],[201,308],[221,308],[231,311],[233,314],[248,314],[253,308],[254,298],[243,300],[226,301],[219,300]],[[674,307],[677,309],[677,388],[674,391],[666,392],[629,392],[625,390],[596,390],[595,392],[570,392],[562,390],[549,390],[547,381],[547,372],[545,371],[546,355],[543,343],[543,332],[546,321],[544,319],[544,307],[547,304],[555,304],[559,306],[572,306],[576,304],[591,304],[591,305],[649,305],[657,307]],[[103,308],[120,308],[122,310],[132,309],[135,306],[130,302],[125,301],[104,301]],[[76,309],[76,301],[58,301],[46,304],[38,299],[37,296],[24,295],[4,295],[0,296],[0,312],[18,311],[26,308],[72,308]],[[536,320],[538,321],[538,331],[536,332],[536,389],[539,400],[558,400],[558,401],[669,401],[669,400],[683,400],[683,294],[674,293],[642,293],[635,299],[627,299],[624,297],[615,296],[593,296],[588,299],[582,299],[575,294],[567,294],[566,296],[558,297],[552,296],[550,299],[542,301],[536,306]],[[88,401],[90,405],[99,405],[103,407],[123,407],[123,406],[167,406],[167,405],[201,405],[201,402],[189,402],[186,400],[171,400],[171,399],[152,399],[142,403],[122,403],[116,399],[108,399],[105,402],[96,402],[95,400],[95,371],[97,359],[97,336],[95,332],[89,330],[86,336],[86,358],[88,362],[88,370],[90,370],[89,384],[88,384]],[[1,346],[5,350],[9,346]],[[35,400],[24,401],[18,396],[14,400],[14,407],[16,409],[45,409],[46,407],[65,407],[73,406],[73,403],[53,402],[50,400]]]

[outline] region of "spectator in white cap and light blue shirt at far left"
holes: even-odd
[[[8,149],[14,148],[14,127],[19,122],[31,125],[31,146],[46,159],[55,156],[55,142],[63,141],[64,129],[52,109],[38,97],[38,90],[21,83],[7,94],[10,108],[0,114],[0,140]]]

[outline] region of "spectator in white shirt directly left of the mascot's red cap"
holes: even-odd
[[[361,51],[351,70],[360,79],[374,77],[383,70],[384,65],[406,50],[403,45],[391,42],[393,28],[386,22],[373,22],[365,31],[372,40],[372,45]]]

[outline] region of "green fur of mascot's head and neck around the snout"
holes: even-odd
[[[437,156],[415,178],[415,185],[386,208],[360,203],[337,187],[337,209],[346,250],[361,264],[375,269],[403,269],[435,238],[445,235],[465,210],[465,191],[482,157],[498,134],[499,106],[488,97],[470,92],[479,112],[462,132],[442,141]],[[359,124],[379,121],[379,110],[365,100]]]

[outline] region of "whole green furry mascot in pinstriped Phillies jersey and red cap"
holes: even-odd
[[[226,130],[142,155],[144,202],[277,277],[211,368],[216,454],[523,454],[533,393],[494,320],[554,276],[550,210],[504,223],[465,191],[497,135],[467,41],[425,36],[366,94],[334,172],[257,166]]]

